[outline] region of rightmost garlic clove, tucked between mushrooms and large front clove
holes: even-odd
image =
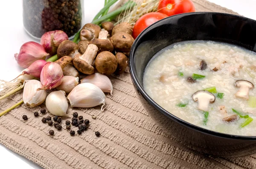
[[[107,92],[112,95],[113,86],[108,76],[101,73],[94,73],[81,79],[81,83],[92,83],[102,89],[102,92]]]

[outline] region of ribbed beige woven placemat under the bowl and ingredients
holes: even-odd
[[[197,11],[236,14],[209,3],[194,0]],[[255,169],[256,155],[243,158],[215,158],[193,152],[164,133],[143,109],[128,72],[112,76],[114,95],[107,94],[106,109],[68,109],[90,120],[90,128],[71,137],[42,123],[42,115],[19,106],[0,117],[0,143],[47,169]],[[1,111],[22,99],[22,92],[0,101]],[[28,120],[22,120],[22,115]],[[46,117],[47,113],[44,115]],[[97,119],[91,117],[95,115]],[[65,128],[64,119],[62,126]],[[49,129],[55,131],[49,136]],[[101,137],[94,132],[99,131]]]

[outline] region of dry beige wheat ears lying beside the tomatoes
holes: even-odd
[[[133,9],[126,9],[120,14],[116,24],[127,22],[133,26],[143,14],[157,11],[158,3],[159,0],[141,0]]]

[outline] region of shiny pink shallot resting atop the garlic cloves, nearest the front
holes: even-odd
[[[48,62],[43,67],[40,74],[42,87],[38,90],[53,89],[62,83],[63,72],[58,63]]]

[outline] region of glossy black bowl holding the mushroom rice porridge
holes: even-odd
[[[131,79],[145,109],[166,132],[199,152],[239,157],[256,153],[256,136],[213,132],[192,125],[157,105],[143,89],[143,73],[148,61],[161,49],[186,40],[213,40],[256,51],[256,21],[232,14],[194,12],[179,14],[145,29],[131,48]]]

